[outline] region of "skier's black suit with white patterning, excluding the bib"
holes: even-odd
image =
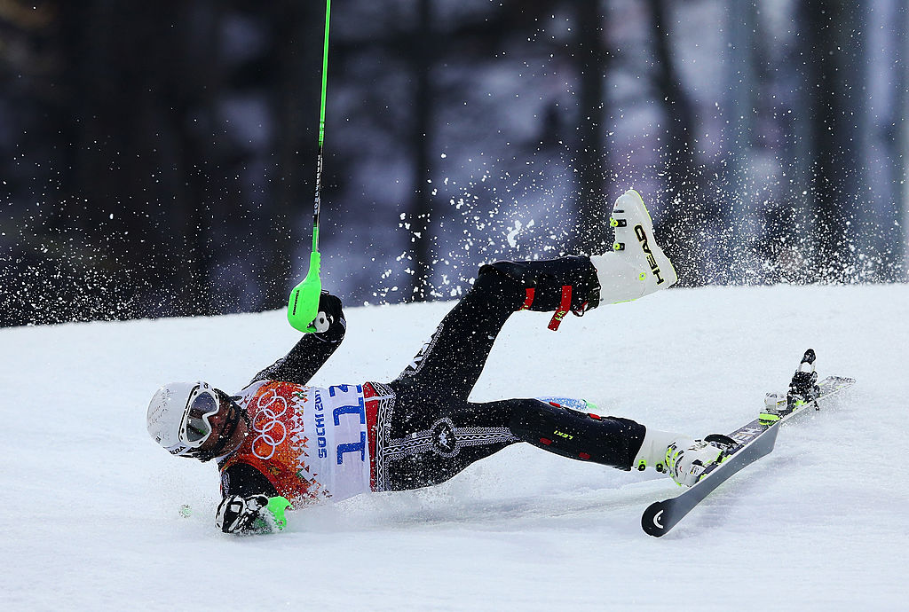
[[[515,311],[583,312],[599,301],[586,257],[548,262],[495,262],[481,268],[473,288],[455,304],[430,341],[391,382],[369,383],[385,398],[370,435],[375,442],[374,490],[405,490],[444,482],[476,460],[517,441],[579,460],[631,469],[644,439],[633,420],[600,417],[542,400],[467,400],[504,322]],[[285,358],[255,380],[305,385],[341,343],[345,321],[305,335]],[[233,470],[233,471],[230,471]],[[233,466],[223,493],[248,496],[275,490],[257,470]]]

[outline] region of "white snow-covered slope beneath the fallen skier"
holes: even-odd
[[[905,285],[716,287],[558,333],[515,315],[474,400],[574,395],[703,435],[751,420],[808,347],[822,376],[858,379],[660,539],[640,517],[671,481],[527,445],[225,536],[215,467],[158,448],[145,408],[171,380],[245,385],[295,342],[283,312],[2,330],[0,607],[905,609],[907,304]],[[451,306],[348,309],[314,384],[394,378]]]

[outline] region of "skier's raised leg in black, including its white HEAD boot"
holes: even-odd
[[[465,400],[512,312],[554,311],[550,328],[557,329],[568,311],[583,314],[601,300],[634,300],[678,280],[654,240],[653,222],[637,192],[625,192],[616,200],[611,223],[614,252],[484,265],[474,287],[445,316],[398,380],[446,388]]]

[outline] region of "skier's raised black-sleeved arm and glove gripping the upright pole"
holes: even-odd
[[[319,313],[325,313],[328,329],[317,333],[304,334],[293,349],[272,365],[260,371],[256,380],[283,380],[305,385],[331,357],[344,340],[347,321],[341,308],[341,301],[328,292],[319,298]]]

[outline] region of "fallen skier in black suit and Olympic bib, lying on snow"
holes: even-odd
[[[496,335],[515,311],[582,315],[677,281],[654,241],[641,196],[620,196],[613,252],[484,265],[401,375],[321,389],[306,386],[345,335],[341,301],[323,293],[317,333],[255,375],[235,396],[206,382],[171,383],[148,406],[152,438],[221,472],[215,524],[225,533],[285,528],[285,508],[366,491],[417,489],[524,441],[617,469],[654,467],[691,486],[724,448],[634,420],[591,412],[584,400],[467,400]]]

